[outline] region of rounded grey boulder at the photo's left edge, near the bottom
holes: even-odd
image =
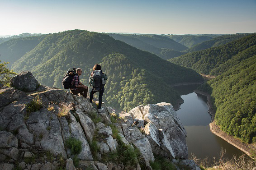
[[[0,147],[18,147],[18,139],[10,132],[0,131]]]

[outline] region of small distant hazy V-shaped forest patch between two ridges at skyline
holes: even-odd
[[[166,35],[166,36],[189,48],[203,41],[210,40],[213,37],[217,37],[216,35]]]

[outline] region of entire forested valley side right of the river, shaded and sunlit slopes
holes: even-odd
[[[170,61],[218,75],[199,87],[212,96],[216,123],[244,142],[256,142],[256,33]]]

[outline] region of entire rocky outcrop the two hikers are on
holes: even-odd
[[[15,88],[0,89],[0,170],[55,170],[60,166],[66,170],[141,170],[137,159],[129,168],[123,162],[95,161],[120,152],[121,143],[139,152],[147,170],[152,169],[154,155],[175,158],[181,167],[197,168],[191,160],[179,160],[187,159],[186,131],[170,103],[137,106],[119,114],[104,103],[96,111],[96,105],[83,96],[38,86],[30,72],[15,76],[11,84]],[[33,110],[37,100],[39,107]],[[111,115],[118,122],[112,123]],[[66,143],[71,138],[81,142],[76,156],[74,147]]]

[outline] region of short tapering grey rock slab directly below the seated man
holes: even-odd
[[[90,119],[90,117],[86,116],[85,114],[83,114],[80,111],[76,111],[76,115],[80,119],[81,127],[83,128],[83,130],[85,132],[87,141],[92,142],[92,139],[93,139],[93,136],[95,133],[95,129],[96,129],[94,122]]]

